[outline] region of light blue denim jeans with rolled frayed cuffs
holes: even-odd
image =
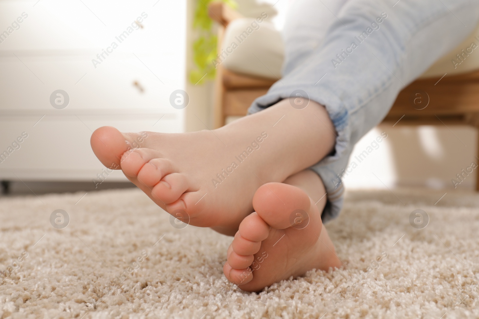
[[[341,173],[354,144],[384,119],[401,89],[462,42],[478,21],[479,0],[293,4],[284,30],[283,78],[253,102],[249,113],[287,99],[297,89],[326,107],[336,145],[311,167],[326,187],[323,221],[342,208]]]

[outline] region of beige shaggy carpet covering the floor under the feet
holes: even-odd
[[[479,318],[479,196],[394,193],[347,193],[327,224],[343,269],[259,294],[224,278],[231,238],[174,228],[139,190],[1,198],[0,318]]]

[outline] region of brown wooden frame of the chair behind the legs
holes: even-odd
[[[218,52],[228,23],[241,15],[222,2],[209,4],[209,16],[218,22]],[[251,77],[217,66],[214,125],[225,125],[228,116],[244,116],[254,99],[264,95],[276,80]],[[420,95],[417,95],[420,94]],[[422,99],[422,108],[413,103]],[[400,121],[399,121],[400,120]],[[462,124],[479,128],[479,71],[448,77],[422,78],[404,88],[383,122],[398,125]],[[478,139],[479,141],[479,139]],[[478,145],[479,158],[479,145]],[[479,191],[479,174],[476,177]]]

